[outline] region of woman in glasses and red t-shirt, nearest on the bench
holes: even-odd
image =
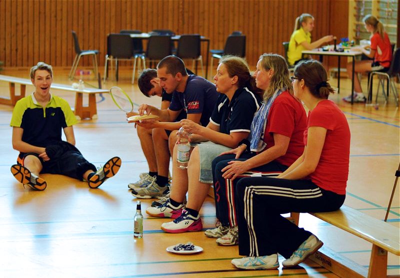
[[[281,214],[335,211],[344,202],[350,131],[344,114],[328,100],[333,89],[322,64],[298,63],[291,77],[294,96],[309,109],[304,152],[277,178],[242,178],[237,183],[239,269],[277,269],[279,253],[289,268],[322,246],[310,232]]]

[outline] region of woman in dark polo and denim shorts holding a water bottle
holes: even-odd
[[[221,152],[235,148],[247,138],[254,113],[260,106],[259,97],[253,93],[256,90],[255,79],[243,59],[223,57],[214,82],[220,95],[208,125],[203,127],[187,119],[181,120],[181,126],[191,133],[190,142],[201,142],[190,154],[187,171],[178,169],[174,163],[170,198],[161,206],[146,210],[151,216],[175,218],[161,225],[161,229],[167,233],[202,229],[198,211],[212,184],[211,162]],[[176,161],[176,147],[172,161]],[[186,192],[188,201],[184,208]]]

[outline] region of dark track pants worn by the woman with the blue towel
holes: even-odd
[[[223,226],[237,226],[234,187],[241,178],[249,177],[257,173],[265,177],[277,176],[287,169],[287,166],[272,161],[241,174],[233,181],[222,178],[223,173],[221,170],[228,165],[229,161],[244,161],[253,156],[255,156],[255,153],[246,153],[241,155],[239,159],[234,159],[234,155],[222,155],[216,157],[212,161],[215,214],[216,218]]]

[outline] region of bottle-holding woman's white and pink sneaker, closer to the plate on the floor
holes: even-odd
[[[186,210],[182,210],[182,214],[174,221],[161,225],[161,230],[167,233],[198,232],[202,228],[200,216],[193,217]]]

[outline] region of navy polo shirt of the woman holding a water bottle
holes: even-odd
[[[219,126],[219,132],[250,132],[254,113],[261,104],[260,98],[246,87],[237,89],[232,99],[220,94],[210,122]]]

